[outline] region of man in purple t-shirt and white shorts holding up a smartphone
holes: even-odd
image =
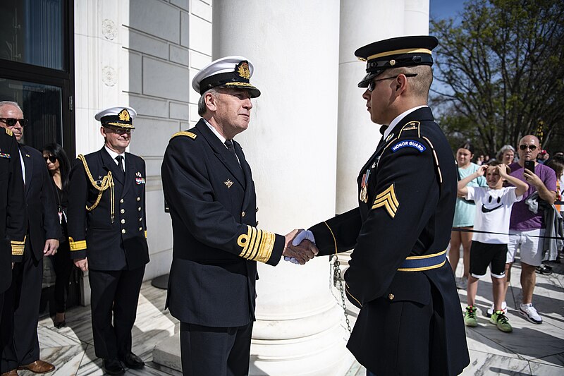
[[[537,163],[537,156],[541,150],[539,139],[534,135],[526,135],[519,141],[517,153],[519,162],[510,164],[511,176],[525,181],[529,189],[523,195],[523,200],[515,202],[509,224],[509,243],[505,274],[507,283],[505,293],[510,281],[510,270],[517,249],[521,257],[521,288],[522,303],[519,312],[534,324],[541,324],[542,317],[532,305],[533,291],[536,284],[535,268],[541,265],[543,238],[546,224],[544,212],[539,205],[537,213],[529,210],[526,201],[530,195],[539,193],[539,200],[544,200],[552,205],[556,200],[556,173],[544,164]]]

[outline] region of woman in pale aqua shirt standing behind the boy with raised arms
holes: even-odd
[[[458,180],[462,180],[466,176],[474,174],[480,166],[472,163],[474,158],[474,147],[470,142],[465,142],[456,150],[456,163],[458,164]],[[485,187],[487,186],[484,176],[479,176],[470,181],[467,186]],[[458,289],[465,290],[467,288],[468,274],[470,274],[470,245],[472,245],[472,232],[464,230],[472,230],[474,227],[475,205],[473,201],[467,201],[464,198],[456,199],[456,207],[454,212],[453,231],[450,233],[450,250],[448,250],[448,261],[450,267],[456,275],[456,267],[460,258],[460,245],[462,245],[462,262],[464,263],[464,271],[462,277],[457,279],[456,286]],[[462,231],[461,231],[462,230]]]

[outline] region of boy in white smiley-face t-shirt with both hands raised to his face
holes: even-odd
[[[474,172],[474,174],[463,178],[458,182],[458,195],[466,200],[476,202],[476,217],[474,218],[474,231],[486,231],[487,233],[475,232],[472,235],[472,248],[470,248],[470,277],[467,287],[467,303],[464,315],[464,323],[467,327],[476,327],[477,308],[474,307],[478,281],[486,275],[488,265],[490,267],[492,289],[494,293],[494,313],[490,322],[502,332],[513,332],[505,310],[502,307],[505,296],[503,286],[505,284],[505,257],[507,255],[507,244],[509,242],[509,218],[511,207],[514,202],[520,201],[529,186],[510,176],[511,170],[505,164],[494,161]],[[478,176],[486,174],[488,188],[467,187],[467,183]],[[508,181],[513,187],[504,187],[503,183]],[[494,234],[491,234],[494,233]]]

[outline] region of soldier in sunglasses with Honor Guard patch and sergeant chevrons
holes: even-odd
[[[367,375],[458,375],[470,363],[446,260],[455,161],[427,107],[437,44],[398,37],[355,51],[367,61],[358,86],[384,136],[360,170],[358,207],[294,241],[314,241],[319,255],[354,248],[345,291],[360,313],[348,348]]]

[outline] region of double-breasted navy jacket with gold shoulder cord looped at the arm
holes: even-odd
[[[88,172],[79,158],[71,169],[68,194],[68,239],[71,258],[88,258],[94,270],[136,269],[149,262],[145,220],[145,161],[125,153],[125,178],[105,147],[84,156]],[[109,173],[114,181],[108,186]],[[92,177],[92,181],[90,179]],[[113,200],[113,202],[112,202]],[[112,207],[114,219],[112,220]]]

